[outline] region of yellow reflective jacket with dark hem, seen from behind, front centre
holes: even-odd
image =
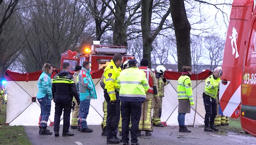
[[[120,86],[119,99],[121,101],[145,101],[149,85],[145,73],[139,68],[131,67],[123,70],[117,82]]]

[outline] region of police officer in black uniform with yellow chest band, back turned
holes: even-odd
[[[62,65],[62,70],[56,74],[52,80],[52,96],[55,102],[55,116],[54,116],[54,135],[59,136],[60,119],[62,110],[63,113],[63,131],[62,136],[74,136],[69,131],[70,127],[70,111],[72,106],[73,96],[76,98],[77,105],[79,105],[79,95],[76,90],[76,84],[73,76],[69,70],[70,64],[65,62]]]

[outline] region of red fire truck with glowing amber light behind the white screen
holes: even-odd
[[[70,71],[75,71],[76,65],[83,64],[84,61],[91,62],[92,71],[104,69],[111,62],[113,55],[120,53],[124,55],[124,61],[134,58],[134,55],[127,54],[126,46],[105,46],[99,41],[93,41],[91,48],[84,48],[82,53],[68,50],[61,54],[61,68],[64,62],[70,63]]]

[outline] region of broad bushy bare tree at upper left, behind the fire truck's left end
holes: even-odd
[[[30,71],[41,69],[44,63],[60,68],[61,53],[81,45],[79,38],[90,24],[90,14],[78,0],[36,0],[27,3],[38,6],[26,9],[24,17],[20,18],[29,22],[23,25],[25,35],[32,29],[26,39],[26,51],[22,53],[23,63],[35,63],[35,68]],[[26,66],[27,69],[29,67]]]

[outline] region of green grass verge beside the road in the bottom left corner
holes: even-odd
[[[2,105],[0,123],[6,122],[6,104]],[[32,145],[23,126],[0,125],[0,145]]]

